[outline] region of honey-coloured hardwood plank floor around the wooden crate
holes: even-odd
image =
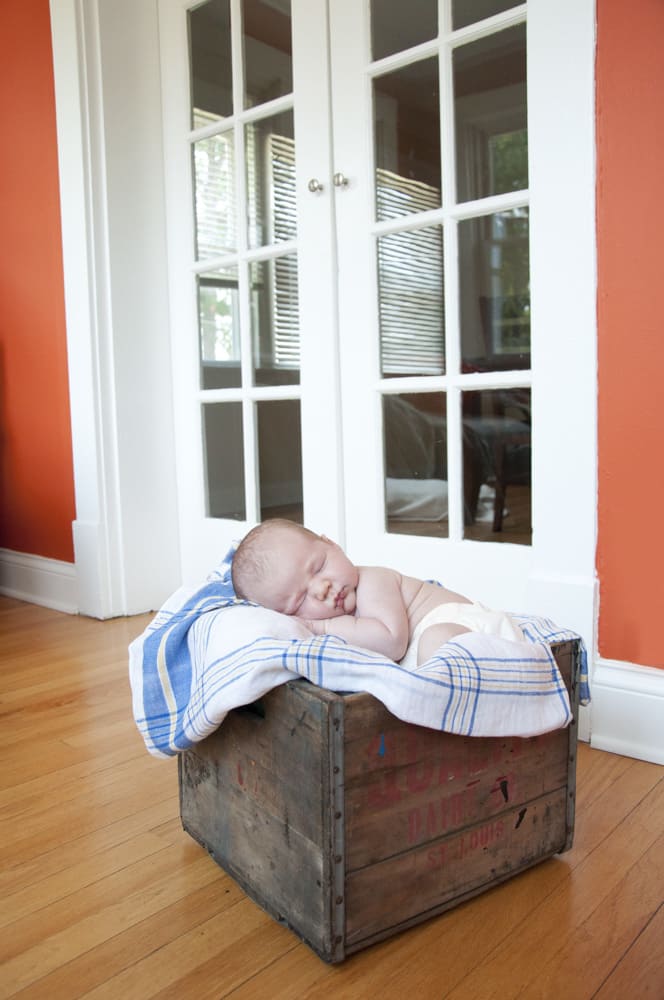
[[[664,768],[582,745],[571,851],[329,967],[182,832],[131,715],[150,617],[0,598],[0,997],[662,1000]]]

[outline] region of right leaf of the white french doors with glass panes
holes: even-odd
[[[526,8],[339,0],[330,31],[347,545],[514,606],[532,541]]]

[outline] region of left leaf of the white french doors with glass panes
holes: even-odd
[[[190,580],[270,515],[344,533],[327,12],[290,8],[159,8]]]

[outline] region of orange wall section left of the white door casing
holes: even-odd
[[[0,547],[73,562],[48,0],[0,5]]]

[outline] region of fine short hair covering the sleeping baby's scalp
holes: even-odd
[[[301,524],[281,517],[269,518],[252,528],[233,556],[231,578],[236,595],[269,607],[266,594],[270,578],[288,559],[289,547],[298,537],[312,541],[319,538]]]

